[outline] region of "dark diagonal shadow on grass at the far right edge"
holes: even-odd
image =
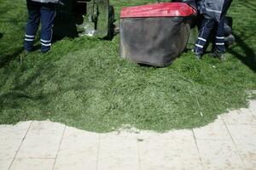
[[[247,65],[252,71],[256,72],[256,59],[253,48],[249,47],[246,42],[244,42],[241,37],[237,36],[236,33],[233,33],[236,37],[236,46],[229,48],[228,51],[230,54],[236,56],[237,59],[240,59],[242,63]],[[234,48],[240,47],[242,54],[239,54]]]

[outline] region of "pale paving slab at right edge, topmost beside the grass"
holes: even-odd
[[[253,124],[256,125],[256,119],[248,109],[239,111],[230,111],[228,114],[222,115],[226,124]]]

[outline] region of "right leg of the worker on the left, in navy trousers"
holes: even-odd
[[[55,4],[44,3],[41,8],[41,52],[49,51],[52,41],[52,28],[55,19]]]

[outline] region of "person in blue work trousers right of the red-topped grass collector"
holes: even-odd
[[[213,28],[216,29],[214,44],[212,44],[213,56],[221,60],[225,59],[224,46],[224,19],[230,8],[232,0],[198,0],[198,11],[203,15],[199,36],[195,43],[194,53],[197,59],[201,59]]]

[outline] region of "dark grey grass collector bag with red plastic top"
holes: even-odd
[[[195,15],[195,8],[187,3],[123,8],[120,15],[121,57],[146,65],[170,65],[186,48]]]

